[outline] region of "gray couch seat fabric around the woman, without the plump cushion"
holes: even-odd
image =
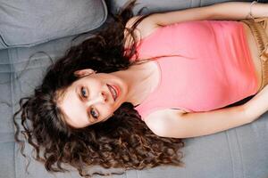
[[[113,7],[120,2],[122,1],[114,0]],[[144,2],[146,1],[144,0]],[[148,1],[147,3],[150,3],[150,7],[153,7],[153,2],[158,4],[160,1]],[[179,9],[181,7],[193,7],[191,6],[193,4],[206,3],[208,2],[171,0],[169,3],[162,5],[165,9]],[[142,6],[142,4],[140,5]],[[157,10],[161,11],[161,9],[161,6],[157,7]],[[0,50],[0,178],[80,177],[73,168],[71,168],[71,173],[49,174],[45,167],[34,159],[31,159],[29,174],[25,173],[28,161],[21,156],[18,151],[18,144],[13,141],[12,116],[19,109],[18,101],[21,97],[31,94],[34,87],[40,84],[46,68],[71,46],[72,37],[56,39],[29,48],[15,47]],[[82,37],[78,41],[81,39]],[[46,53],[49,54],[52,61]],[[30,56],[31,58],[29,58]],[[113,175],[113,177],[268,177],[268,113],[251,124],[242,125],[219,134],[184,139],[184,142],[185,147],[181,151],[184,154],[182,161],[186,164],[186,167],[158,166],[142,171],[131,170],[122,175]],[[26,144],[25,151],[27,155],[30,155],[29,144]],[[99,167],[94,167],[94,169],[109,172],[109,170]]]

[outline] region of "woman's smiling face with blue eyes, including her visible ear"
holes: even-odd
[[[104,122],[126,101],[128,88],[121,78],[106,73],[95,74],[91,69],[84,69],[80,77],[58,101],[67,124],[81,128]]]

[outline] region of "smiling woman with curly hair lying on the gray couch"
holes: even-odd
[[[268,4],[133,17],[134,4],[71,47],[35,93],[21,99],[15,116],[22,111],[23,134],[46,170],[63,171],[61,163],[81,175],[94,165],[182,166],[182,138],[245,125],[268,109],[268,73],[262,73]],[[259,22],[245,20],[252,16]],[[253,94],[243,105],[223,108]]]

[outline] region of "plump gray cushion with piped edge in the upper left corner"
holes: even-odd
[[[0,0],[0,49],[88,32],[106,18],[104,0]]]

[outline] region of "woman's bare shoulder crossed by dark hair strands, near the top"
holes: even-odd
[[[142,18],[142,16],[139,15],[139,16],[132,17],[130,20],[128,20],[125,27],[131,28],[139,18]],[[156,28],[160,28],[160,26],[157,25],[149,17],[147,17],[138,23],[138,26],[134,30],[134,35],[137,36],[138,40],[140,40],[144,38],[145,36],[149,36],[152,32],[155,31]],[[124,31],[124,36],[127,38],[126,41],[130,44],[132,42],[132,39],[131,39],[131,36],[129,36],[129,33],[127,30]]]

